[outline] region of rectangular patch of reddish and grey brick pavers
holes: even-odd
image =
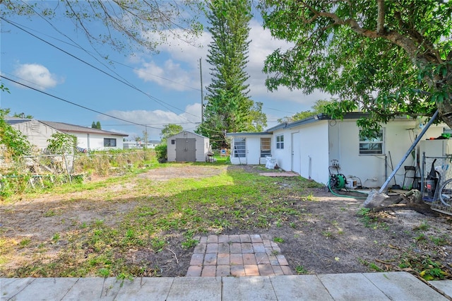
[[[268,235],[209,235],[191,256],[187,277],[292,275],[278,244]]]

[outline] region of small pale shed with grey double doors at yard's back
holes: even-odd
[[[167,138],[168,162],[205,162],[209,149],[209,138],[190,131]]]

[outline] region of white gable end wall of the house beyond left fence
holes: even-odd
[[[60,133],[57,129],[53,129],[34,119],[28,122],[13,124],[12,127],[27,136],[32,146],[40,151],[44,151],[47,148],[49,145],[47,140],[52,138],[53,134]]]

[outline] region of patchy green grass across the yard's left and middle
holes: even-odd
[[[7,230],[1,230],[0,262],[10,264],[1,265],[0,275],[160,276],[165,262],[154,261],[153,256],[168,249],[169,240],[178,239],[183,250],[196,245],[195,234],[295,227],[288,221],[302,214],[295,201],[312,199],[304,191],[313,183],[301,177],[287,179],[289,188],[282,189],[270,177],[226,169],[218,162],[208,166],[224,172],[164,182],[129,173],[53,187],[45,196],[35,193],[6,199],[10,214],[20,198],[44,199],[40,218],[57,221],[61,227],[40,229],[40,237],[22,239],[6,238]],[[275,242],[284,240],[275,237]]]

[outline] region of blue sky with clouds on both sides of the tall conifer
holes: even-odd
[[[129,134],[127,139],[143,136],[147,129],[150,140],[160,140],[165,124],[180,124],[194,131],[201,122],[200,59],[204,95],[211,81],[206,62],[210,42],[207,31],[193,45],[169,37],[167,43],[158,47],[158,54],[143,49],[119,53],[108,45],[93,47],[64,18],[52,19],[53,26],[38,16],[9,16],[8,20],[28,33],[1,20],[1,75],[47,94],[2,79],[11,92],[0,93],[2,109],[81,126],[99,121],[102,129]],[[246,67],[250,95],[255,102],[263,102],[268,127],[278,124],[278,118],[309,110],[316,100],[329,99],[322,93],[304,95],[287,88],[268,92],[263,61],[274,49],[288,45],[273,39],[257,19],[251,20],[250,28]],[[107,54],[108,60],[99,53]]]

